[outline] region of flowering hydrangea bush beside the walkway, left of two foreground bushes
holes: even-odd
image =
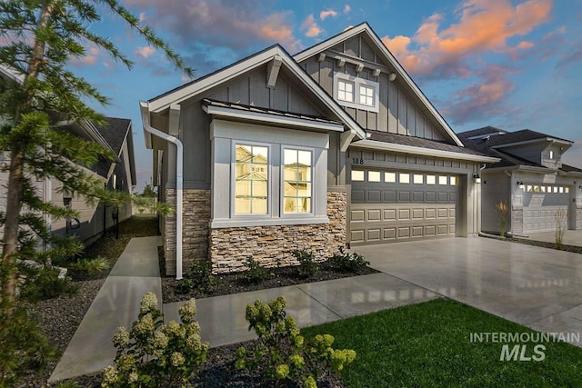
[[[195,320],[196,301],[178,310],[182,323],[164,323],[155,293],[146,293],[130,331],[119,327],[113,343],[113,365],[103,371],[102,387],[171,387],[185,384],[194,367],[206,362],[208,344],[202,343]]]

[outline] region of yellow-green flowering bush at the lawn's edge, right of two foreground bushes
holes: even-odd
[[[272,385],[295,382],[303,387],[316,387],[324,371],[341,371],[356,358],[349,349],[335,350],[334,337],[318,334],[308,340],[301,335],[296,321],[286,316],[283,296],[268,304],[257,300],[246,306],[249,330],[258,339],[248,348],[236,351],[236,369],[258,371]]]

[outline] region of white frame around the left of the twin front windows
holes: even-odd
[[[266,147],[266,213],[236,213],[236,145],[249,145],[256,147]],[[273,191],[271,190],[271,184],[273,179],[273,153],[271,149],[271,144],[268,143],[258,143],[258,142],[248,142],[243,140],[236,140],[232,142],[232,153],[231,153],[231,168],[230,168],[230,217],[232,219],[266,219],[272,217],[273,209]]]

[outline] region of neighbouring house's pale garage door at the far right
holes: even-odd
[[[527,184],[524,190],[524,233],[556,231],[559,212],[567,226],[567,186]]]

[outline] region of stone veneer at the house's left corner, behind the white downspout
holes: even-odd
[[[210,190],[182,191],[182,270],[186,273],[194,260],[208,259],[208,223],[210,222]],[[176,207],[176,190],[166,189],[166,203]],[[166,274],[176,274],[176,214],[166,216],[164,256]]]

